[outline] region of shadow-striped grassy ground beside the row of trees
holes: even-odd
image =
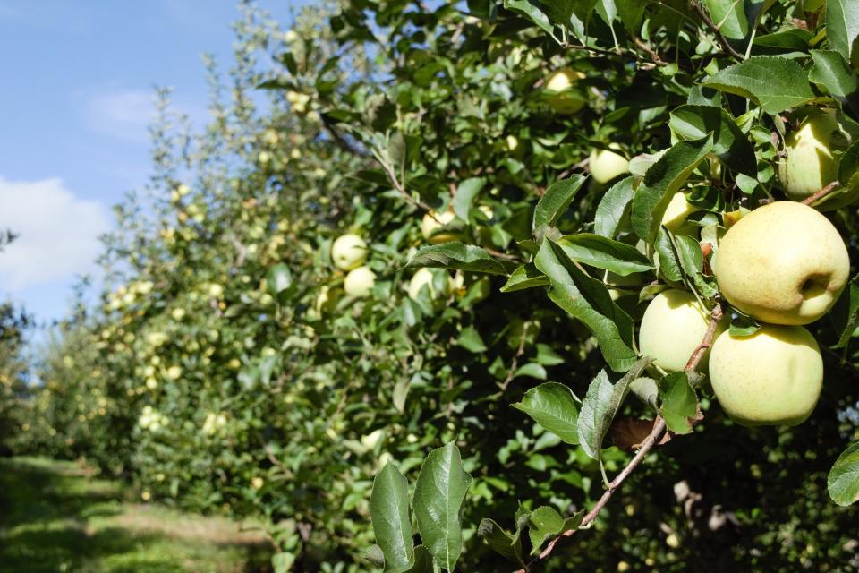
[[[259,532],[123,501],[67,462],[0,459],[0,573],[238,573],[268,569]]]

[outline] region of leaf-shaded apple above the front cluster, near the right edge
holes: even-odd
[[[817,111],[785,140],[787,157],[778,162],[778,180],[788,199],[803,201],[838,179],[840,157],[849,138],[838,125],[835,110]]]

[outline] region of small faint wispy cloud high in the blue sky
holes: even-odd
[[[89,96],[87,122],[96,132],[123,140],[148,138],[147,127],[155,116],[152,91],[119,90]]]

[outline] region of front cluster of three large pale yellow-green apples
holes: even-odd
[[[838,230],[811,207],[776,201],[730,227],[712,263],[727,302],[761,322],[747,337],[719,325],[709,356],[719,404],[746,426],[803,423],[821,395],[823,361],[802,325],[829,312],[849,278]],[[639,349],[662,370],[683,370],[708,323],[693,295],[668,290],[644,312]]]

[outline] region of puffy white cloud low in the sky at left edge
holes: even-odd
[[[20,235],[0,253],[0,289],[20,292],[92,271],[98,236],[110,227],[104,205],[76,197],[59,178],[0,177],[0,229]]]

